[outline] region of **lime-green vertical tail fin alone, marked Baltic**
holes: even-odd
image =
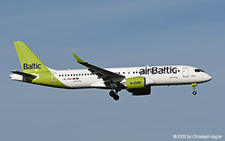
[[[21,67],[25,73],[49,71],[41,60],[22,41],[14,41]]]

